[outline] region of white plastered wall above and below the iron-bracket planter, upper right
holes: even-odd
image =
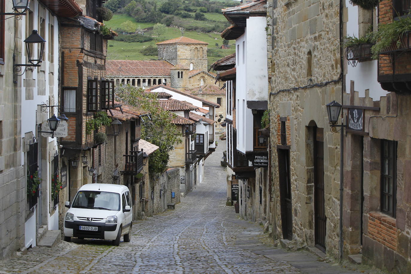
[[[353,6],[349,0],[345,0],[348,9],[347,35],[358,37],[358,6]],[[354,90],[359,97],[365,97],[365,90],[369,90],[369,97],[379,101],[381,96],[388,93],[381,88],[377,81],[378,61],[358,62],[356,67],[347,64],[346,92],[350,93],[351,81],[354,81]]]

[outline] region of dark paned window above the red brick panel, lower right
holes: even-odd
[[[385,147],[388,145],[388,155],[386,155]],[[386,169],[386,161],[388,161],[388,174],[384,174]],[[391,173],[391,174],[390,174]],[[384,189],[384,181],[388,182],[388,191]],[[397,142],[391,140],[381,140],[381,212],[395,218],[395,207],[397,205]],[[392,187],[392,193],[389,189]],[[385,207],[386,199],[391,197],[391,202],[388,201],[388,206],[391,206],[391,211]]]

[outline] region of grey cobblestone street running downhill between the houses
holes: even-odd
[[[226,175],[219,165],[224,145],[205,161],[205,180],[175,210],[134,222],[131,242],[117,247],[111,241],[73,238],[0,262],[0,273],[349,272],[317,262],[309,253],[289,253],[258,241],[261,227],[238,220],[234,208],[225,205]]]

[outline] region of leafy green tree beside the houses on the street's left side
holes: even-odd
[[[149,172],[164,172],[169,163],[169,152],[173,150],[174,145],[182,143],[182,134],[172,123],[177,115],[160,107],[155,92],[145,93],[142,88],[132,85],[118,87],[115,97],[122,103],[152,114],[151,119],[144,119],[141,124],[141,138],[159,146],[159,149],[150,155]]]

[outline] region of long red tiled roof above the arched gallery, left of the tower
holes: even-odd
[[[107,60],[107,76],[170,76],[173,64],[163,61]]]

